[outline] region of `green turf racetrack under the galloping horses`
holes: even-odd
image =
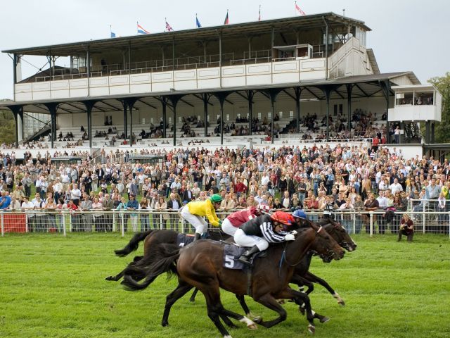
[[[342,261],[314,260],[311,271],[345,299],[345,307],[320,286],[314,309],[331,320],[316,324],[316,337],[450,337],[450,241],[417,235],[354,237],[359,247]],[[207,318],[205,301],[176,303],[169,327],[160,320],[175,280],[161,276],[143,292],[126,292],[104,277],[130,261],[113,249],[127,243],[117,234],[12,235],[0,238],[0,337],[221,337]],[[141,251],[139,250],[138,253]],[[241,313],[222,292],[227,308]],[[268,320],[275,313],[248,300]],[[236,337],[307,337],[307,320],[293,303],[288,320],[255,332],[237,323]]]

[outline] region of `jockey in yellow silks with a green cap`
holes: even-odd
[[[181,218],[191,223],[195,227],[195,240],[200,239],[202,234],[207,230],[207,223],[202,218],[206,216],[211,225],[218,227],[222,221],[217,218],[216,209],[220,208],[222,197],[214,194],[205,201],[192,201],[186,204],[181,210]]]

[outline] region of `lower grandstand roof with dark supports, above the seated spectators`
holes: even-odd
[[[340,77],[338,79],[329,80],[309,80],[293,82],[290,84],[268,84],[259,86],[246,86],[246,87],[228,87],[222,89],[205,89],[203,92],[207,91],[209,93],[217,92],[245,92],[245,90],[255,90],[257,92],[264,92],[269,89],[282,89],[278,96],[278,99],[295,99],[294,87],[304,87],[302,91],[302,100],[324,100],[325,95],[323,94],[323,87],[326,85],[331,85],[335,87],[333,92],[330,94],[330,99],[346,99],[347,89],[343,86],[345,84],[355,84],[352,89],[352,97],[374,97],[374,96],[384,96],[383,90],[380,87],[380,82],[389,80],[392,85],[398,84],[396,79],[401,77],[409,77],[409,80],[413,84],[420,84],[416,75],[413,72],[398,72],[398,73],[384,73],[384,74],[372,74],[372,75],[355,75],[348,77]],[[201,91],[200,91],[201,92]],[[106,111],[120,111],[122,110],[122,104],[118,102],[121,99],[127,98],[139,98],[134,105],[135,108],[143,107],[153,107],[156,108],[160,105],[160,96],[171,96],[186,95],[180,104],[187,104],[193,106],[194,104],[199,104],[198,94],[199,90],[186,90],[186,91],[176,91],[176,92],[159,92],[159,93],[141,93],[141,94],[123,94],[115,96],[90,96],[84,98],[74,98],[74,99],[51,99],[45,101],[6,101],[0,102],[1,106],[27,106],[26,111],[30,113],[49,113],[49,110],[44,104],[50,102],[60,103],[58,106],[58,114],[60,113],[82,113],[86,111],[82,101],[95,100],[101,101],[96,104],[93,111],[106,112]],[[394,93],[391,91],[391,94]],[[260,95],[260,96],[259,96]],[[267,99],[264,94],[259,94],[255,99]],[[243,95],[231,94],[227,101],[231,104],[247,104],[247,99]]]

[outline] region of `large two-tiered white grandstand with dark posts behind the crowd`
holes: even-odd
[[[322,13],[8,50],[14,99],[1,106],[15,115],[20,149],[69,142],[94,154],[196,139],[420,144],[420,122],[432,142],[440,94],[411,71],[380,73],[366,46],[370,31],[361,20]],[[27,56],[46,56],[48,68],[20,78]],[[56,66],[58,57],[70,65]],[[26,142],[24,112],[51,117],[50,127],[34,134],[39,145]]]

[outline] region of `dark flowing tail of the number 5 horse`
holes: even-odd
[[[130,263],[124,270],[122,285],[128,291],[143,290],[148,287],[159,275],[169,273],[169,277],[176,274],[175,262],[179,258],[179,247],[174,244],[160,244],[158,251],[152,257],[145,257],[140,261]],[[143,279],[142,283],[136,282]]]

